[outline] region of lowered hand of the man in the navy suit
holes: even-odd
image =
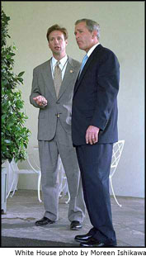
[[[86,131],[86,143],[90,145],[97,143],[99,128],[96,126],[89,126]]]

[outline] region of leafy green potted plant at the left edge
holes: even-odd
[[[28,117],[23,111],[24,101],[21,98],[21,91],[18,89],[18,85],[23,84],[22,75],[24,72],[17,75],[13,73],[15,62],[13,58],[16,55],[16,47],[7,45],[7,38],[10,38],[7,33],[7,26],[8,21],[10,21],[10,17],[7,17],[3,10],[1,10],[1,17],[1,164],[3,164],[5,161],[11,163],[12,159],[16,162],[18,160],[22,161],[26,159],[26,148],[31,131],[25,126],[26,119]],[[3,183],[6,184],[6,182]],[[2,184],[2,187],[4,184]],[[6,188],[4,189],[6,191]]]

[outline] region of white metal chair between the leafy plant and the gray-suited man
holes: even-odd
[[[38,200],[41,202],[41,199],[40,199],[40,179],[41,179],[40,168],[39,168],[39,166],[37,166],[37,164],[35,164],[36,168],[34,168],[31,164],[29,157],[27,158],[27,162],[29,164],[29,168],[26,168],[26,169],[18,168],[14,159],[12,160],[12,162],[10,164],[7,163],[7,168],[11,168],[11,171],[13,173],[12,185],[9,188],[9,191],[7,192],[7,197],[9,197],[9,195],[10,195],[10,197],[13,197],[13,195],[16,191],[19,174],[34,174],[35,173],[38,175],[37,191],[38,191]],[[12,192],[12,194],[10,194],[11,192]]]

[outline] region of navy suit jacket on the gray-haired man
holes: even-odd
[[[118,140],[117,93],[120,65],[115,54],[97,45],[77,79],[73,92],[73,145],[85,145],[88,126],[100,128],[99,144]]]

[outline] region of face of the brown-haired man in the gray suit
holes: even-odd
[[[66,45],[68,42],[64,39],[64,34],[61,31],[52,31],[49,34],[49,48],[54,55],[64,55]]]

